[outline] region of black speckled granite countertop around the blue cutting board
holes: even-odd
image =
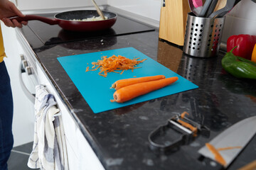
[[[212,58],[183,55],[180,47],[159,40],[158,30],[57,45],[43,45],[26,26],[19,32],[31,45],[36,60],[72,111],[70,114],[107,170],[199,169],[196,161],[198,149],[230,125],[256,115],[255,80],[237,79],[223,71],[220,64],[223,53]],[[57,57],[122,47],[136,48],[199,88],[93,113]],[[210,137],[199,135],[190,144],[168,153],[149,149],[149,132],[183,111],[190,113],[188,118],[191,120],[210,128]],[[252,162],[256,159],[255,153],[256,137],[253,137],[228,169],[238,169]]]

